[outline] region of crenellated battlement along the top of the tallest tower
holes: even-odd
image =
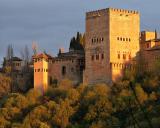
[[[117,13],[121,13],[121,14],[139,14],[139,12],[136,11],[136,10],[106,8],[106,9],[87,12],[86,13],[86,18],[100,17],[101,14],[105,14],[105,13],[109,13],[109,12],[117,12]]]

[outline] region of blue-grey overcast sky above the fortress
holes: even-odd
[[[85,31],[85,12],[108,7],[136,9],[141,29],[160,31],[160,0],[0,0],[0,60],[12,44],[19,56],[36,41],[41,51],[68,50],[70,38]]]

